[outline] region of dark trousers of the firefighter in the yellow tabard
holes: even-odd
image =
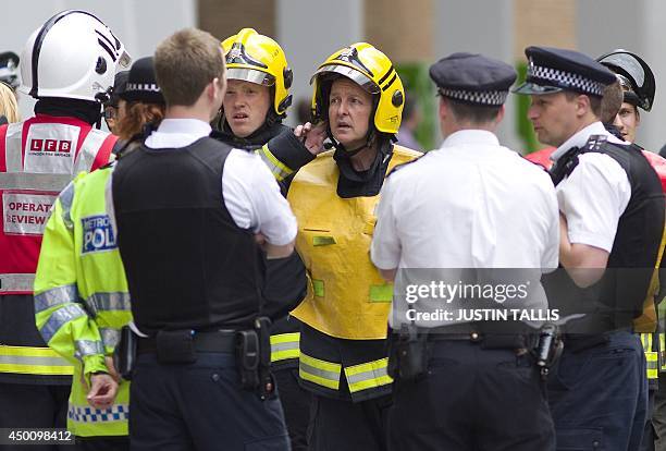
[[[391,394],[361,402],[312,394],[309,449],[383,451],[387,449]]]

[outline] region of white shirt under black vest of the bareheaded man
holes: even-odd
[[[164,119],[146,138],[146,146],[186,147],[210,135],[208,123],[196,119]],[[284,245],[296,237],[296,218],[271,171],[255,154],[233,149],[224,162],[222,196],[236,226],[266,235],[269,243]],[[113,205],[111,202],[108,205]]]

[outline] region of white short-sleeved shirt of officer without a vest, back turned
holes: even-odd
[[[493,133],[466,130],[388,176],[371,258],[382,269],[531,268],[534,295],[527,305],[545,308],[539,280],[542,268],[557,267],[558,246],[557,200],[548,175],[502,147]],[[396,318],[404,321],[407,308],[396,304],[393,327]]]

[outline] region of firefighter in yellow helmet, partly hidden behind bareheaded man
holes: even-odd
[[[278,42],[255,29],[243,28],[226,38],[222,47],[227,87],[221,130],[213,137],[235,148],[256,151],[285,186],[283,181],[323,148],[324,129],[308,130],[301,142],[301,136],[282,124],[292,102],[293,75]],[[303,126],[298,132],[303,134]],[[300,302],[305,297],[305,268],[298,254],[266,260],[264,265],[267,300]],[[275,321],[271,334],[273,374],[280,387],[292,449],[306,450],[310,394],[298,385],[299,341],[300,326],[296,318],[287,316]]]

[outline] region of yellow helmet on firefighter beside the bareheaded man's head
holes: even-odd
[[[222,41],[226,77],[274,87],[273,110],[282,117],[292,105],[289,88],[294,81],[282,47],[252,28]]]

